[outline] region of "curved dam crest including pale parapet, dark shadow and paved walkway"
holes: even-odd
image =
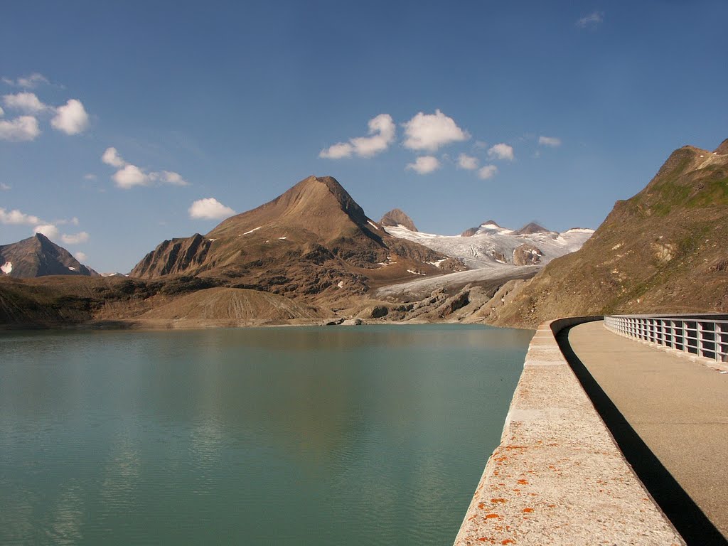
[[[669,350],[539,326],[455,545],[728,544],[728,367]]]

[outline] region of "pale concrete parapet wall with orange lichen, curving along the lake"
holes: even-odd
[[[684,545],[556,342],[563,328],[598,319],[539,326],[501,443],[488,459],[456,546]]]

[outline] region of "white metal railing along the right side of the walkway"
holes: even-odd
[[[621,336],[641,339],[717,362],[728,362],[726,318],[725,315],[705,314],[614,314],[604,317],[604,326]]]

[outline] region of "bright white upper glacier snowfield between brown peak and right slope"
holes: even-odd
[[[496,264],[547,264],[553,258],[579,250],[593,233],[591,229],[549,232],[535,223],[515,231],[501,227],[492,220],[456,236],[412,232],[404,226],[389,226],[385,229],[395,237],[419,242],[436,252],[459,258],[472,269]]]

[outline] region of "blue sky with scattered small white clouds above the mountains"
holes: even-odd
[[[309,175],[420,231],[596,228],[728,138],[728,2],[0,4],[0,245],[100,272]]]

